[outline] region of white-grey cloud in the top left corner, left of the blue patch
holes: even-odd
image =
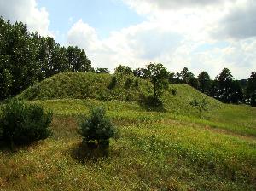
[[[5,20],[22,21],[33,32],[46,36],[49,32],[49,13],[38,8],[36,0],[0,0],[0,13]]]

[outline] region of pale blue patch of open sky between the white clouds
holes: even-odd
[[[138,24],[143,16],[118,0],[38,0],[38,7],[49,12],[49,30],[67,33],[73,23],[82,19],[96,29],[100,38],[108,38],[109,32]],[[64,39],[58,39],[64,43]]]

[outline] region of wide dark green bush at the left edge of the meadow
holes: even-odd
[[[38,104],[11,101],[0,114],[0,140],[11,145],[24,145],[50,135],[52,113]]]

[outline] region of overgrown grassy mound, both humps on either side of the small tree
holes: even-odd
[[[110,74],[67,72],[33,85],[18,97],[25,100],[90,98],[102,101],[139,101],[140,95],[151,93],[150,85],[147,80],[134,76],[117,76],[116,84],[113,85],[113,76]],[[177,92],[173,94],[173,90]],[[219,101],[185,84],[171,84],[161,99],[166,111],[186,115],[199,113],[190,105],[193,100],[205,99],[211,110],[221,107]]]

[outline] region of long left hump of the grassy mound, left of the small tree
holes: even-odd
[[[110,74],[96,74],[90,72],[67,72],[47,78],[35,84],[20,94],[21,99],[49,100],[49,99],[84,99],[135,101],[141,91],[145,89],[145,82],[139,78],[117,78],[117,84],[112,84]],[[125,81],[131,78],[129,87]],[[138,87],[135,86],[137,81]],[[112,87],[111,87],[112,84]]]

